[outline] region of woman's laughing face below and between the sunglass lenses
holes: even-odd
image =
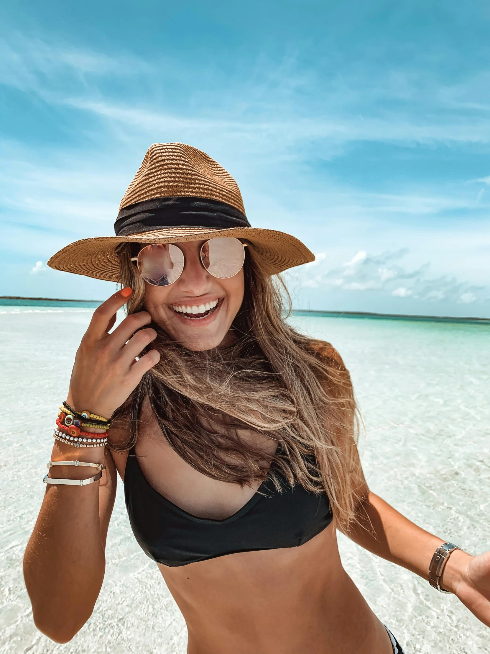
[[[227,345],[231,323],[242,305],[243,268],[234,277],[218,279],[206,271],[199,252],[204,241],[176,243],[184,252],[182,275],[167,286],[145,282],[144,306],[175,341],[189,350]]]

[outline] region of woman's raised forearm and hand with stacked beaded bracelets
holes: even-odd
[[[159,360],[155,350],[141,354],[157,336],[152,328],[142,329],[152,320],[146,311],[128,316],[110,332],[131,292],[125,288],[115,293],[93,312],[71,373],[67,404],[77,411],[90,409],[109,419]],[[89,432],[103,431],[81,424]],[[103,450],[57,441],[52,460],[101,463]],[[116,470],[108,451],[105,464],[101,481],[78,487],[48,485],[25,551],[25,585],[35,623],[53,640],[65,642],[73,637],[90,617],[101,589],[105,537],[116,493]],[[57,466],[50,477],[92,477],[88,470],[94,469]]]

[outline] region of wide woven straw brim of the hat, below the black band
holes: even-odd
[[[67,273],[118,282],[120,264],[116,247],[120,243],[182,243],[205,241],[218,236],[235,237],[248,243],[259,257],[267,262],[272,275],[315,259],[314,254],[299,239],[276,230],[255,227],[225,230],[173,227],[131,236],[101,236],[75,241],[56,252],[48,261],[48,266]]]

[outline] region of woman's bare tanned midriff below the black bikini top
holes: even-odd
[[[188,654],[393,654],[340,562],[333,525],[300,547],[158,564]]]

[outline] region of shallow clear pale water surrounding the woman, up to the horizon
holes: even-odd
[[[184,620],[131,534],[121,488],[105,582],[90,621],[67,645],[34,627],[22,555],[44,493],[56,407],[92,311],[1,309],[0,651],[184,654]],[[366,422],[361,450],[372,490],[470,553],[490,549],[490,328],[348,318],[291,322],[331,341],[351,370]],[[407,653],[490,651],[490,630],[457,598],[339,538],[346,570]]]

